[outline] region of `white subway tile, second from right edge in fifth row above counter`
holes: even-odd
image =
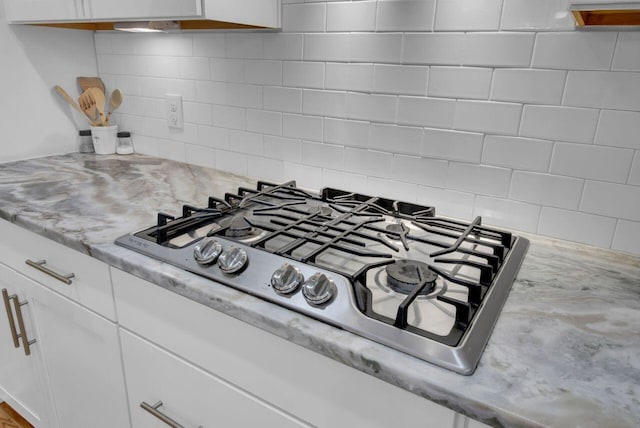
[[[491,99],[560,105],[565,79],[565,71],[498,69],[493,73]]]

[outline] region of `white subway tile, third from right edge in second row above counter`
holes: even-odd
[[[511,170],[469,163],[450,162],[447,188],[462,192],[505,198]]]

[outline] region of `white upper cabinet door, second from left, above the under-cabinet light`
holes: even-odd
[[[96,20],[193,18],[201,14],[201,0],[91,0],[91,18]]]

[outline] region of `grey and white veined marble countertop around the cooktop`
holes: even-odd
[[[477,370],[462,376],[113,241],[245,177],[141,155],[0,164],[0,217],[496,426],[640,426],[640,258],[527,235]]]

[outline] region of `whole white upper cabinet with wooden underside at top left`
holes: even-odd
[[[237,24],[280,27],[281,0],[5,0],[4,3],[7,20],[16,24],[71,24],[68,27],[108,30],[112,27],[77,24],[174,20],[184,22],[183,29],[233,28],[233,25],[237,28]]]

